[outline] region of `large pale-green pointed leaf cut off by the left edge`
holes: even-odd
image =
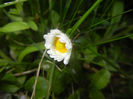
[[[11,22],[0,28],[0,32],[9,33],[29,29],[29,25],[25,22]]]

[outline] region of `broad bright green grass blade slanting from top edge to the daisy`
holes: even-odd
[[[72,27],[72,31],[70,33],[70,37],[74,35],[75,30],[79,27],[79,25],[87,18],[87,16],[95,9],[97,5],[99,5],[102,2],[102,0],[97,0],[91,8],[87,10],[87,12],[75,23],[75,25]]]

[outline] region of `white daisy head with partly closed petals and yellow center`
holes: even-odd
[[[51,29],[43,38],[50,57],[58,62],[64,60],[64,64],[67,65],[72,51],[72,43],[68,36],[58,29]]]

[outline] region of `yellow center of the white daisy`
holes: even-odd
[[[60,42],[59,38],[56,37],[55,48],[56,48],[57,51],[59,51],[60,53],[66,53],[67,49],[66,49],[65,45],[66,45],[66,43]]]

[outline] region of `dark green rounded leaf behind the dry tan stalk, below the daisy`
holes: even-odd
[[[32,92],[32,88],[35,82],[35,77],[31,77],[25,84],[25,89]],[[43,77],[38,78],[37,86],[36,86],[36,98],[42,99],[46,96],[48,90],[48,81]]]

